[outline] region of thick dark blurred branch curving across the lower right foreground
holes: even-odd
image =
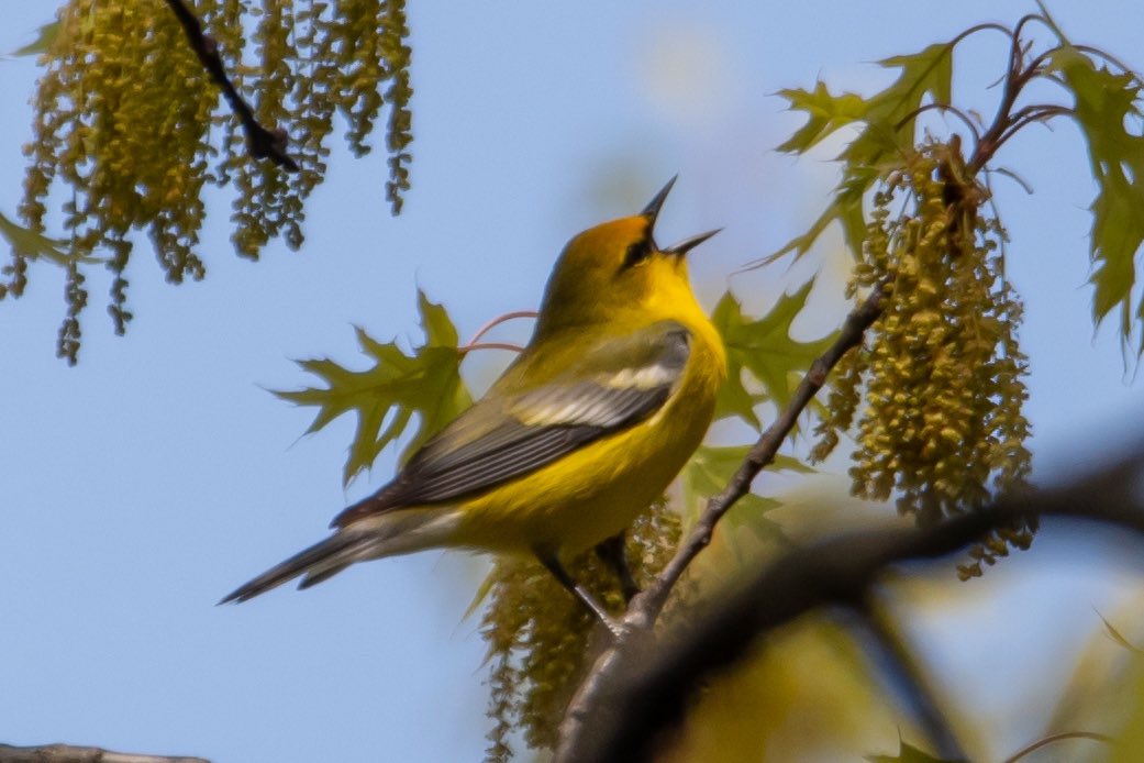
[[[682,718],[694,688],[713,671],[739,660],[760,635],[811,610],[860,609],[892,564],[946,556],[1015,520],[1041,516],[1113,523],[1144,533],[1144,499],[1137,490],[1142,470],[1144,444],[1095,476],[1002,498],[931,527],[850,533],[791,551],[689,618],[693,627],[673,643],[622,660],[614,679],[596,688],[589,712],[577,720],[591,732],[562,745],[556,760],[648,760],[662,731]]]

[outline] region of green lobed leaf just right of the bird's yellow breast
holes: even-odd
[[[728,292],[712,313],[712,323],[726,347],[728,382],[715,403],[715,416],[739,416],[756,430],[762,423],[755,406],[771,400],[780,408],[791,402],[797,379],[815,358],[834,342],[836,332],[812,342],[791,339],[791,324],[807,304],[813,279],[794,294],[784,294],[765,316],[750,319],[742,305]],[[744,383],[744,371],[762,388],[752,392]]]

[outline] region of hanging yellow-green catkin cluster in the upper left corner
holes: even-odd
[[[199,0],[193,10],[238,90],[256,95],[259,122],[285,129],[297,172],[248,154],[239,120],[220,103],[164,0],[67,0],[18,51],[43,67],[19,218],[39,237],[62,225],[51,236],[66,255],[48,260],[66,272],[57,352],[71,364],[87,304],[85,270],[96,254],[113,273],[108,311],[120,334],[133,318],[127,269],[135,233],[148,233],[167,281],[206,275],[197,245],[208,183],[236,191],[231,240],[240,255],[256,259],[278,236],[301,246],[304,201],[325,175],[335,112],[362,156],[388,106],[386,196],[395,214],[408,188],[412,89],[402,0]],[[23,293],[32,259],[13,247],[0,297]]]

